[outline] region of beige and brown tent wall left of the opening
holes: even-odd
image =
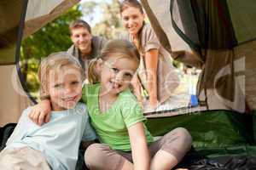
[[[79,3],[79,0],[3,0],[0,2],[1,126],[8,122],[17,122],[21,111],[31,104],[26,97],[28,90],[20,72],[21,38],[38,31],[49,21],[73,7],[75,3]],[[17,81],[17,77],[20,77],[21,81]],[[32,96],[29,93],[27,95],[34,102]]]

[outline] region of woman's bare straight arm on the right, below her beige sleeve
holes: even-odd
[[[149,49],[145,53],[145,63],[147,69],[147,83],[149,105],[153,108],[157,107],[157,65],[158,65],[158,49]]]

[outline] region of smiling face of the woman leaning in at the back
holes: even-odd
[[[143,26],[145,15],[139,8],[127,7],[121,13],[121,18],[125,29],[131,34],[131,36],[136,37],[138,31],[140,31]]]

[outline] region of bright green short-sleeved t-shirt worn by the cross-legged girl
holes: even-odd
[[[119,94],[108,111],[102,113],[98,102],[99,91],[100,84],[85,85],[83,88],[82,99],[87,105],[92,127],[102,144],[108,144],[113,150],[130,151],[127,128],[137,122],[146,121],[136,97],[127,89]],[[153,142],[153,137],[145,125],[144,130],[148,143]]]

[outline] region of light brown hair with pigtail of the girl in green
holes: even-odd
[[[121,57],[133,59],[139,65],[140,54],[137,51],[137,48],[126,40],[114,39],[109,40],[105,46],[102,48],[102,53],[100,57],[90,61],[88,68],[88,80],[90,83],[99,82],[99,75],[96,75],[96,63],[99,59],[107,60],[109,57]]]

